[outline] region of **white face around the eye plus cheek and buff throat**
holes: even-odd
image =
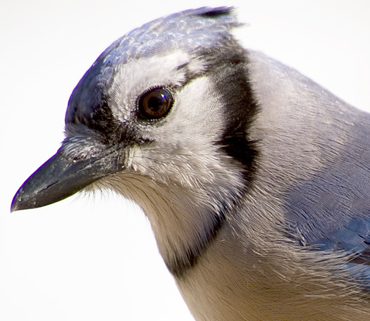
[[[221,152],[223,101],[203,63],[182,51],[132,60],[108,93],[123,128],[150,143],[128,146],[125,170],[99,184],[139,204],[174,273],[203,251],[244,186],[239,165]],[[170,113],[157,122],[136,119],[137,98],[156,86],[171,90]]]

